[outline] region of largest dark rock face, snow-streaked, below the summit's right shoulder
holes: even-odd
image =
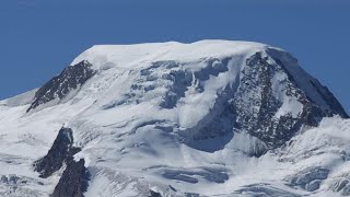
[[[270,60],[275,60],[277,63],[271,63]],[[288,97],[302,105],[302,112],[298,117],[292,116],[291,112],[279,117],[276,116],[283,103],[275,95],[273,91],[276,90],[272,89],[271,81],[281,74],[287,78],[277,84],[282,88],[279,92],[283,92]],[[335,114],[348,117],[332,94],[327,89],[320,90],[320,85],[316,84],[317,91],[322,91],[324,99],[329,102],[330,109],[315,104],[298,86],[293,77],[278,59],[262,57],[260,53],[257,53],[246,60],[242,76],[241,85],[233,102],[237,114],[236,124],[240,129],[257,137],[269,148],[284,144],[303,125],[317,126],[323,117]]]

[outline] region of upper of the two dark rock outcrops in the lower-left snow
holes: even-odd
[[[52,175],[62,167],[68,158],[80,151],[78,148],[73,148],[72,143],[72,130],[70,128],[61,128],[48,153],[34,163],[35,171],[40,173],[40,177],[46,178]]]

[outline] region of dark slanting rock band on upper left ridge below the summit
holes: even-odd
[[[27,112],[50,101],[62,100],[71,90],[75,90],[83,85],[95,74],[95,71],[91,66],[92,65],[89,61],[81,61],[78,65],[66,68],[59,76],[45,83],[35,93],[34,102]]]

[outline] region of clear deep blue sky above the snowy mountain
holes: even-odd
[[[350,112],[349,0],[1,0],[0,99],[95,44],[209,38],[284,48]]]

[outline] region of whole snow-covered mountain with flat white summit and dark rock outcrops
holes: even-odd
[[[348,118],[268,45],[98,45],[0,102],[0,196],[350,196]]]

